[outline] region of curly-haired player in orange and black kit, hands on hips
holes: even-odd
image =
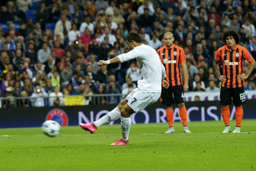
[[[213,67],[219,80],[222,81],[220,88],[220,105],[222,106],[222,117],[226,126],[223,133],[231,132],[229,126],[229,104],[231,104],[231,98],[236,108],[235,116],[237,122],[233,133],[240,133],[243,116],[242,104],[246,103],[244,80],[248,78],[255,67],[255,60],[246,48],[238,45],[240,36],[236,31],[229,30],[224,32],[222,41],[226,45],[217,50]],[[223,75],[219,72],[218,63],[220,60],[223,62]],[[243,73],[245,60],[250,62],[246,74]]]

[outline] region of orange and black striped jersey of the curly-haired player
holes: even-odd
[[[227,80],[222,83],[222,87],[236,88],[245,86],[245,82],[237,79],[237,75],[243,73],[243,66],[245,60],[251,62],[253,60],[250,52],[239,45],[229,51],[227,45],[220,47],[215,56],[216,60],[222,59],[223,62],[223,75]]]

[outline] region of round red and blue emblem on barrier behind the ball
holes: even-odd
[[[46,121],[52,120],[58,122],[61,126],[68,125],[68,117],[66,112],[61,109],[53,109],[46,115]]]

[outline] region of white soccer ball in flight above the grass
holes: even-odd
[[[42,124],[43,133],[49,137],[56,137],[61,132],[61,125],[56,121],[45,121]]]

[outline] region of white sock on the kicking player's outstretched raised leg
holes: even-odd
[[[95,126],[99,127],[101,125],[104,125],[119,119],[120,116],[121,116],[120,110],[118,109],[118,107],[115,107],[108,114],[104,115],[98,121],[95,121],[93,123],[95,124]]]

